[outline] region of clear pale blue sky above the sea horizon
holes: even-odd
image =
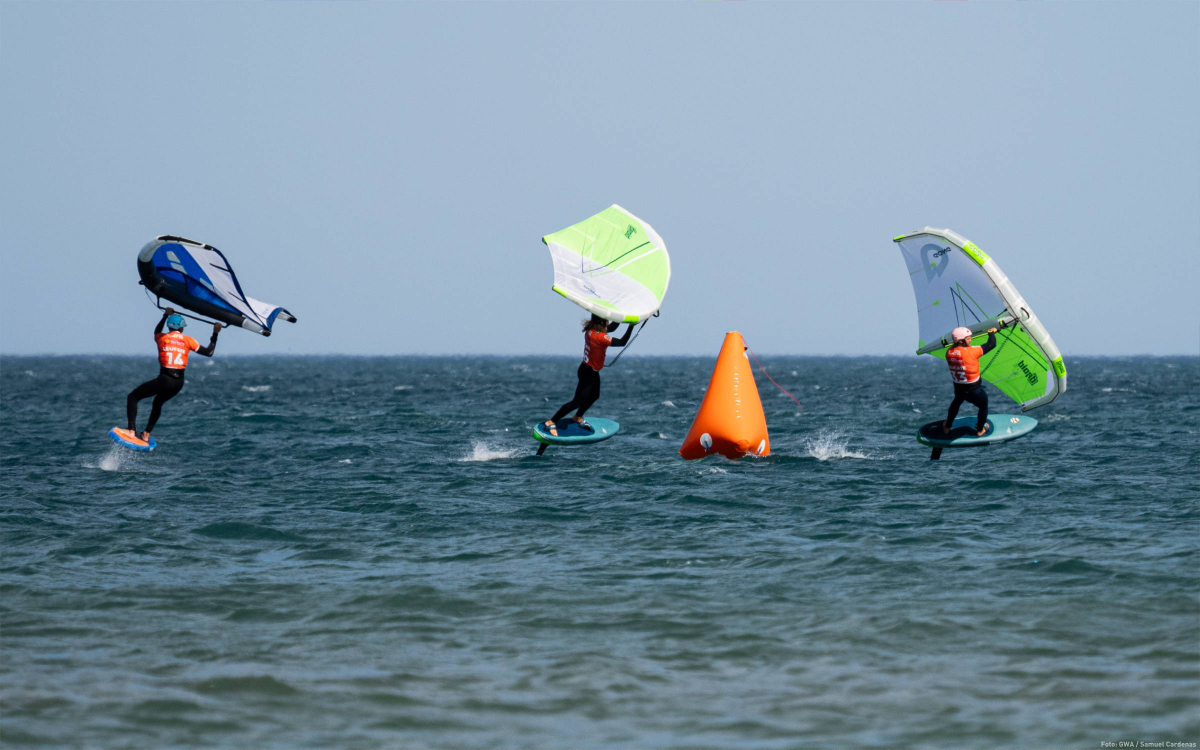
[[[540,238],[671,250],[631,354],[908,354],[949,227],[1069,358],[1195,354],[1194,2],[0,5],[0,352],[152,354],[134,258],[293,311],[221,353],[576,355]],[[70,329],[70,334],[66,331]]]

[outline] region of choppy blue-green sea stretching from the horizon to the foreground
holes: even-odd
[[[197,356],[150,455],[152,356],[0,359],[0,743],[1200,740],[1200,360],[1068,359],[940,462],[942,362],[762,360],[770,457],[685,462],[713,358],[541,458],[575,358]]]

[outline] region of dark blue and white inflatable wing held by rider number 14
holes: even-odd
[[[216,247],[164,234],[138,253],[138,275],[155,296],[247,331],[271,335],[277,319],[295,323],[278,305],[246,296],[229,260]]]

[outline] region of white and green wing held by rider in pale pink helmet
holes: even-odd
[[[946,359],[959,326],[972,334],[1000,329],[979,374],[1022,412],[1044,407],[1067,390],[1067,367],[1050,334],[996,262],[949,229],[925,227],[894,240],[917,296],[917,354]]]

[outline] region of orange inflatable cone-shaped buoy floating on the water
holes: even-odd
[[[770,455],[767,416],[745,352],[742,334],[725,335],[704,401],[679,448],[679,455],[688,461],[713,454],[726,458]]]

